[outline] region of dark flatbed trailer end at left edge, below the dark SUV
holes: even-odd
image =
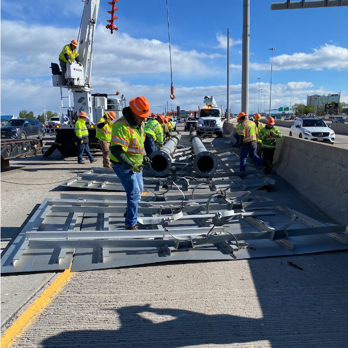
[[[44,153],[42,139],[1,139],[1,168],[10,168],[10,159],[17,157],[36,156]]]

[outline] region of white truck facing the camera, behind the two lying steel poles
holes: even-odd
[[[203,103],[205,106],[199,110],[197,122],[197,135],[216,134],[222,138],[222,110],[218,107],[213,96],[204,97]]]

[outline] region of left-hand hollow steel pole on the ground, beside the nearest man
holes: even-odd
[[[176,149],[177,143],[181,139],[181,134],[174,135],[169,139],[163,148],[152,152],[149,156],[150,164],[149,170],[156,176],[166,175],[172,167],[173,152]]]

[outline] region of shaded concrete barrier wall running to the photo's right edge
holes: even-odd
[[[284,135],[272,169],[333,222],[348,225],[348,149]]]

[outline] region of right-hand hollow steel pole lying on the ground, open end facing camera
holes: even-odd
[[[193,169],[202,177],[213,175],[219,165],[215,154],[206,150],[199,136],[193,136],[191,142],[194,152]]]

